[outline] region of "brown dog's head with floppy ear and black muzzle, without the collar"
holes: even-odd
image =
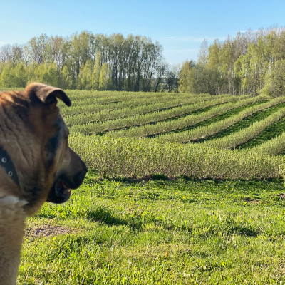
[[[85,163],[68,147],[68,128],[59,113],[57,99],[71,105],[63,90],[40,83],[29,84],[24,92],[0,97],[5,118],[16,115],[15,123],[7,130],[13,135],[6,150],[19,176],[18,196],[28,202],[28,215],[43,202],[66,202],[71,189],[78,188],[86,176]]]

